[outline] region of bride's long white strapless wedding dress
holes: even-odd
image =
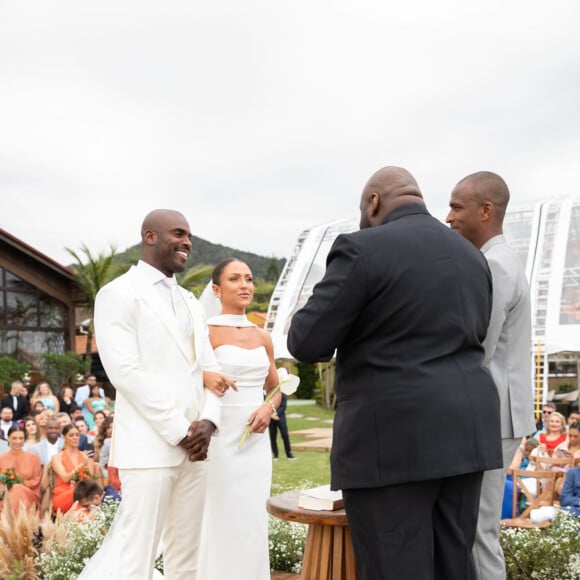
[[[200,580],[269,580],[268,514],[272,459],[268,431],[239,440],[248,417],[264,402],[270,362],[263,346],[221,345],[221,370],[238,391],[222,397],[219,435],[209,448],[207,502],[200,552]]]

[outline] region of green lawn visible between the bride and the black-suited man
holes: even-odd
[[[303,415],[294,418],[292,415]],[[292,435],[292,431],[316,427],[332,427],[325,420],[334,417],[334,411],[327,411],[319,405],[289,405],[286,409],[290,443],[304,440]],[[310,420],[312,419],[312,420]],[[288,461],[284,455],[280,435],[278,435],[280,459],[273,462],[272,494],[291,489],[307,489],[330,483],[330,454],[325,451],[293,451],[296,461]]]

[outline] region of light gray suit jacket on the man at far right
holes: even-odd
[[[497,386],[504,439],[533,433],[532,326],[530,292],[523,264],[495,236],[481,248],[493,278],[493,305],[485,348],[485,366]]]

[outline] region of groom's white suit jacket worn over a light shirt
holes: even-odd
[[[95,336],[116,393],[109,463],[118,468],[172,467],[192,421],[219,427],[219,399],[203,387],[202,370],[219,370],[203,310],[180,288],[193,319],[195,352],[181,338],[163,273],[139,262],[104,286],[95,301]]]

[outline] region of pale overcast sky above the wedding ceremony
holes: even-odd
[[[439,218],[480,169],[578,193],[579,28],[577,0],[0,0],[0,227],[68,264],[168,207],[289,257],[384,165]]]

